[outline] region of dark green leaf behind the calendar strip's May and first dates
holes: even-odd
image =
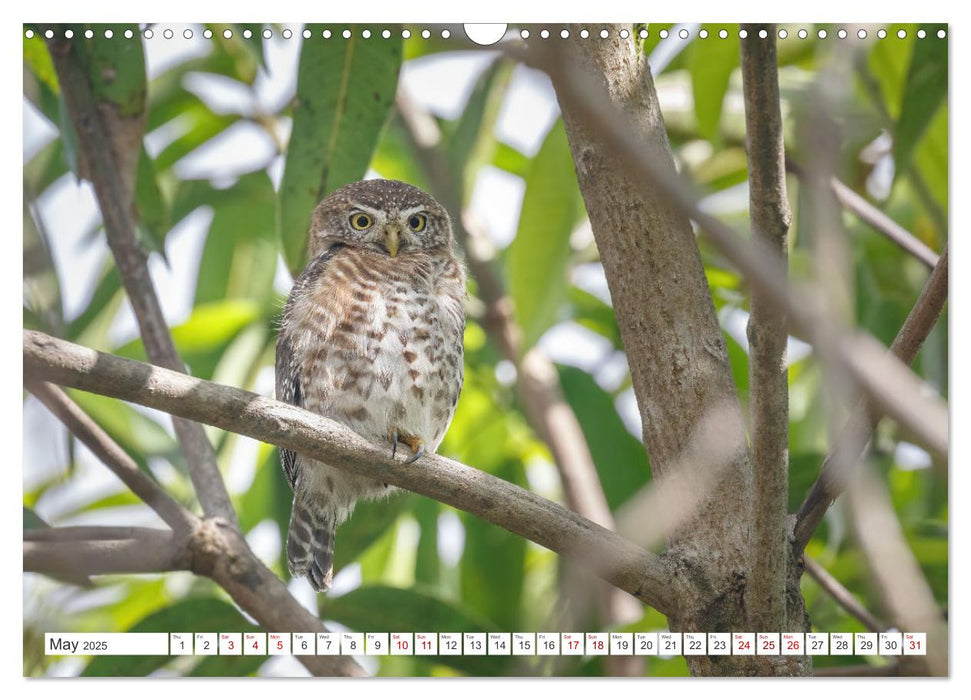
[[[216,598],[192,598],[174,603],[162,610],[143,618],[128,632],[258,632],[259,628],[246,621],[246,618],[232,605]],[[265,657],[207,657],[205,674],[190,675],[247,675],[251,671],[240,672],[238,664],[229,662],[237,658],[253,660],[262,664]],[[98,656],[85,666],[82,676],[147,676],[169,663],[172,657],[165,656]],[[259,667],[256,665],[256,668]],[[255,670],[255,668],[253,669]],[[226,671],[226,672],[221,672]],[[231,671],[231,672],[229,672]]]

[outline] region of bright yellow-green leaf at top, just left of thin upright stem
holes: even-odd
[[[734,25],[706,25],[706,29],[709,32],[707,39],[696,38],[691,42],[687,63],[698,132],[712,143],[718,143],[722,103],[732,71],[739,65],[740,47],[738,29]],[[721,29],[729,30],[728,38],[718,36]]]

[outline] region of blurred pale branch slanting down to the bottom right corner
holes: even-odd
[[[904,539],[886,484],[863,465],[846,492],[850,527],[890,621],[927,633],[927,655],[909,657],[932,676],[947,675],[947,624]]]

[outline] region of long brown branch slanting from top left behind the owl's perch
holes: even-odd
[[[59,32],[57,34],[60,36]],[[112,140],[111,129],[105,123],[114,112],[108,105],[97,102],[92,94],[89,77],[78,61],[73,41],[58,38],[50,40],[48,45],[64,102],[75,125],[80,155],[94,185],[108,245],[138,321],[145,351],[155,364],[185,371],[159,306],[145,255],[135,240],[131,206],[135,168],[128,161],[138,161],[140,131],[136,134],[138,138],[130,139],[131,143],[125,144],[125,151],[119,152],[117,139]],[[235,523],[236,513],[219,473],[215,452],[202,426],[181,420],[175,420],[173,424],[203,511]]]

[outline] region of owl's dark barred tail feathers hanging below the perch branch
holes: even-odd
[[[287,533],[287,565],[293,576],[306,576],[316,591],[326,591],[334,578],[334,531],[337,521],[319,505],[293,500]]]

